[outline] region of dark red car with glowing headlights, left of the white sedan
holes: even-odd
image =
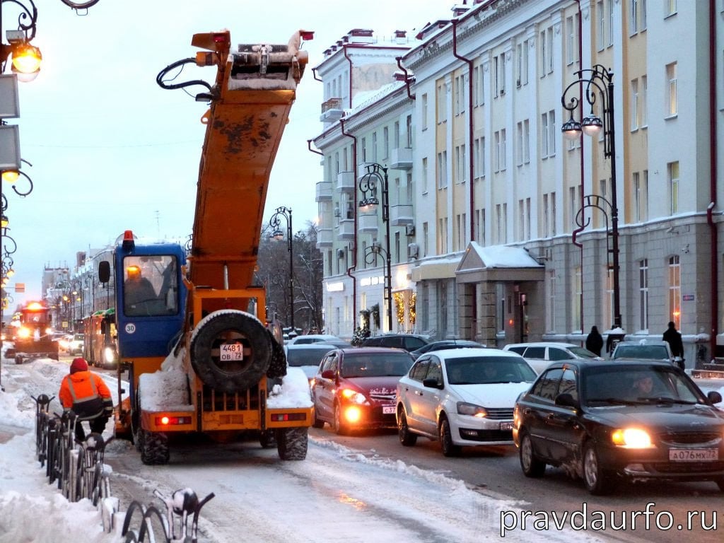
[[[315,428],[328,422],[337,434],[395,427],[395,389],[413,364],[410,353],[388,348],[335,349],[312,383]]]

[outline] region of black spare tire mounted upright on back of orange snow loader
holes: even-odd
[[[243,360],[221,361],[220,346],[240,342]],[[199,379],[219,392],[235,394],[250,389],[266,374],[271,361],[269,333],[256,317],[243,311],[212,313],[191,340],[191,365]]]

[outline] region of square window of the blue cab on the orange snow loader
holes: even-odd
[[[123,259],[123,313],[126,316],[174,315],[178,312],[177,262],[174,256],[127,256]]]

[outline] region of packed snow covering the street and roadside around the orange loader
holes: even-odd
[[[298,462],[282,462],[276,449],[242,442],[174,450],[166,466],[144,466],[133,445],[117,439],[106,447],[104,463],[119,512],[106,532],[102,513],[108,504],[69,502],[35,457],[32,397],[57,395],[68,369],[68,363],[45,358],[22,365],[2,360],[0,543],[122,542],[132,500],[165,512],[154,490],[169,496],[190,488],[199,499],[214,492],[201,510],[199,542],[480,542],[502,536],[502,513],[526,509],[524,502],[481,494],[444,473],[327,439],[310,437],[307,458]],[[114,374],[104,373],[104,379],[117,400]],[[57,400],[50,408],[61,411]],[[111,434],[112,422],[104,437]],[[594,542],[598,535],[527,526],[506,531],[505,539]]]

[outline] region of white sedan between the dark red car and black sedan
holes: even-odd
[[[438,439],[445,456],[463,445],[513,445],[513,406],[536,373],[500,349],[437,350],[417,359],[397,383],[397,430],[411,447]]]

